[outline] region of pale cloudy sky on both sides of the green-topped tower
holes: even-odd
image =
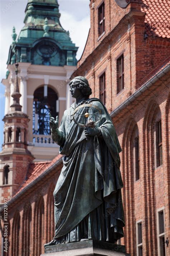
[[[58,0],[61,25],[65,30],[69,30],[73,43],[79,47],[77,59],[81,57],[90,28],[89,3],[89,0]],[[0,0],[0,81],[6,74],[12,28],[15,26],[16,34],[19,35],[24,26],[26,5],[27,0]],[[3,143],[4,93],[5,86],[0,84],[0,150]]]

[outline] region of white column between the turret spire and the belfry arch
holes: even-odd
[[[20,76],[20,105],[22,106],[22,112],[27,114],[27,79],[28,76]]]

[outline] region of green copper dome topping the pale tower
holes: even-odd
[[[77,47],[60,24],[56,0],[28,0],[24,27],[11,44],[7,64],[76,65]]]

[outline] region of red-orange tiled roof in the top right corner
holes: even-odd
[[[146,13],[145,29],[148,36],[170,38],[169,0],[142,0],[141,10]]]

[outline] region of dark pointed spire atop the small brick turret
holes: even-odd
[[[19,98],[21,97],[21,94],[19,93],[19,84],[18,84],[18,66],[19,64],[15,64],[15,74],[16,74],[16,83],[14,87],[14,92],[11,95],[13,97],[13,104],[11,105],[11,111],[21,111],[22,106],[19,104]]]

